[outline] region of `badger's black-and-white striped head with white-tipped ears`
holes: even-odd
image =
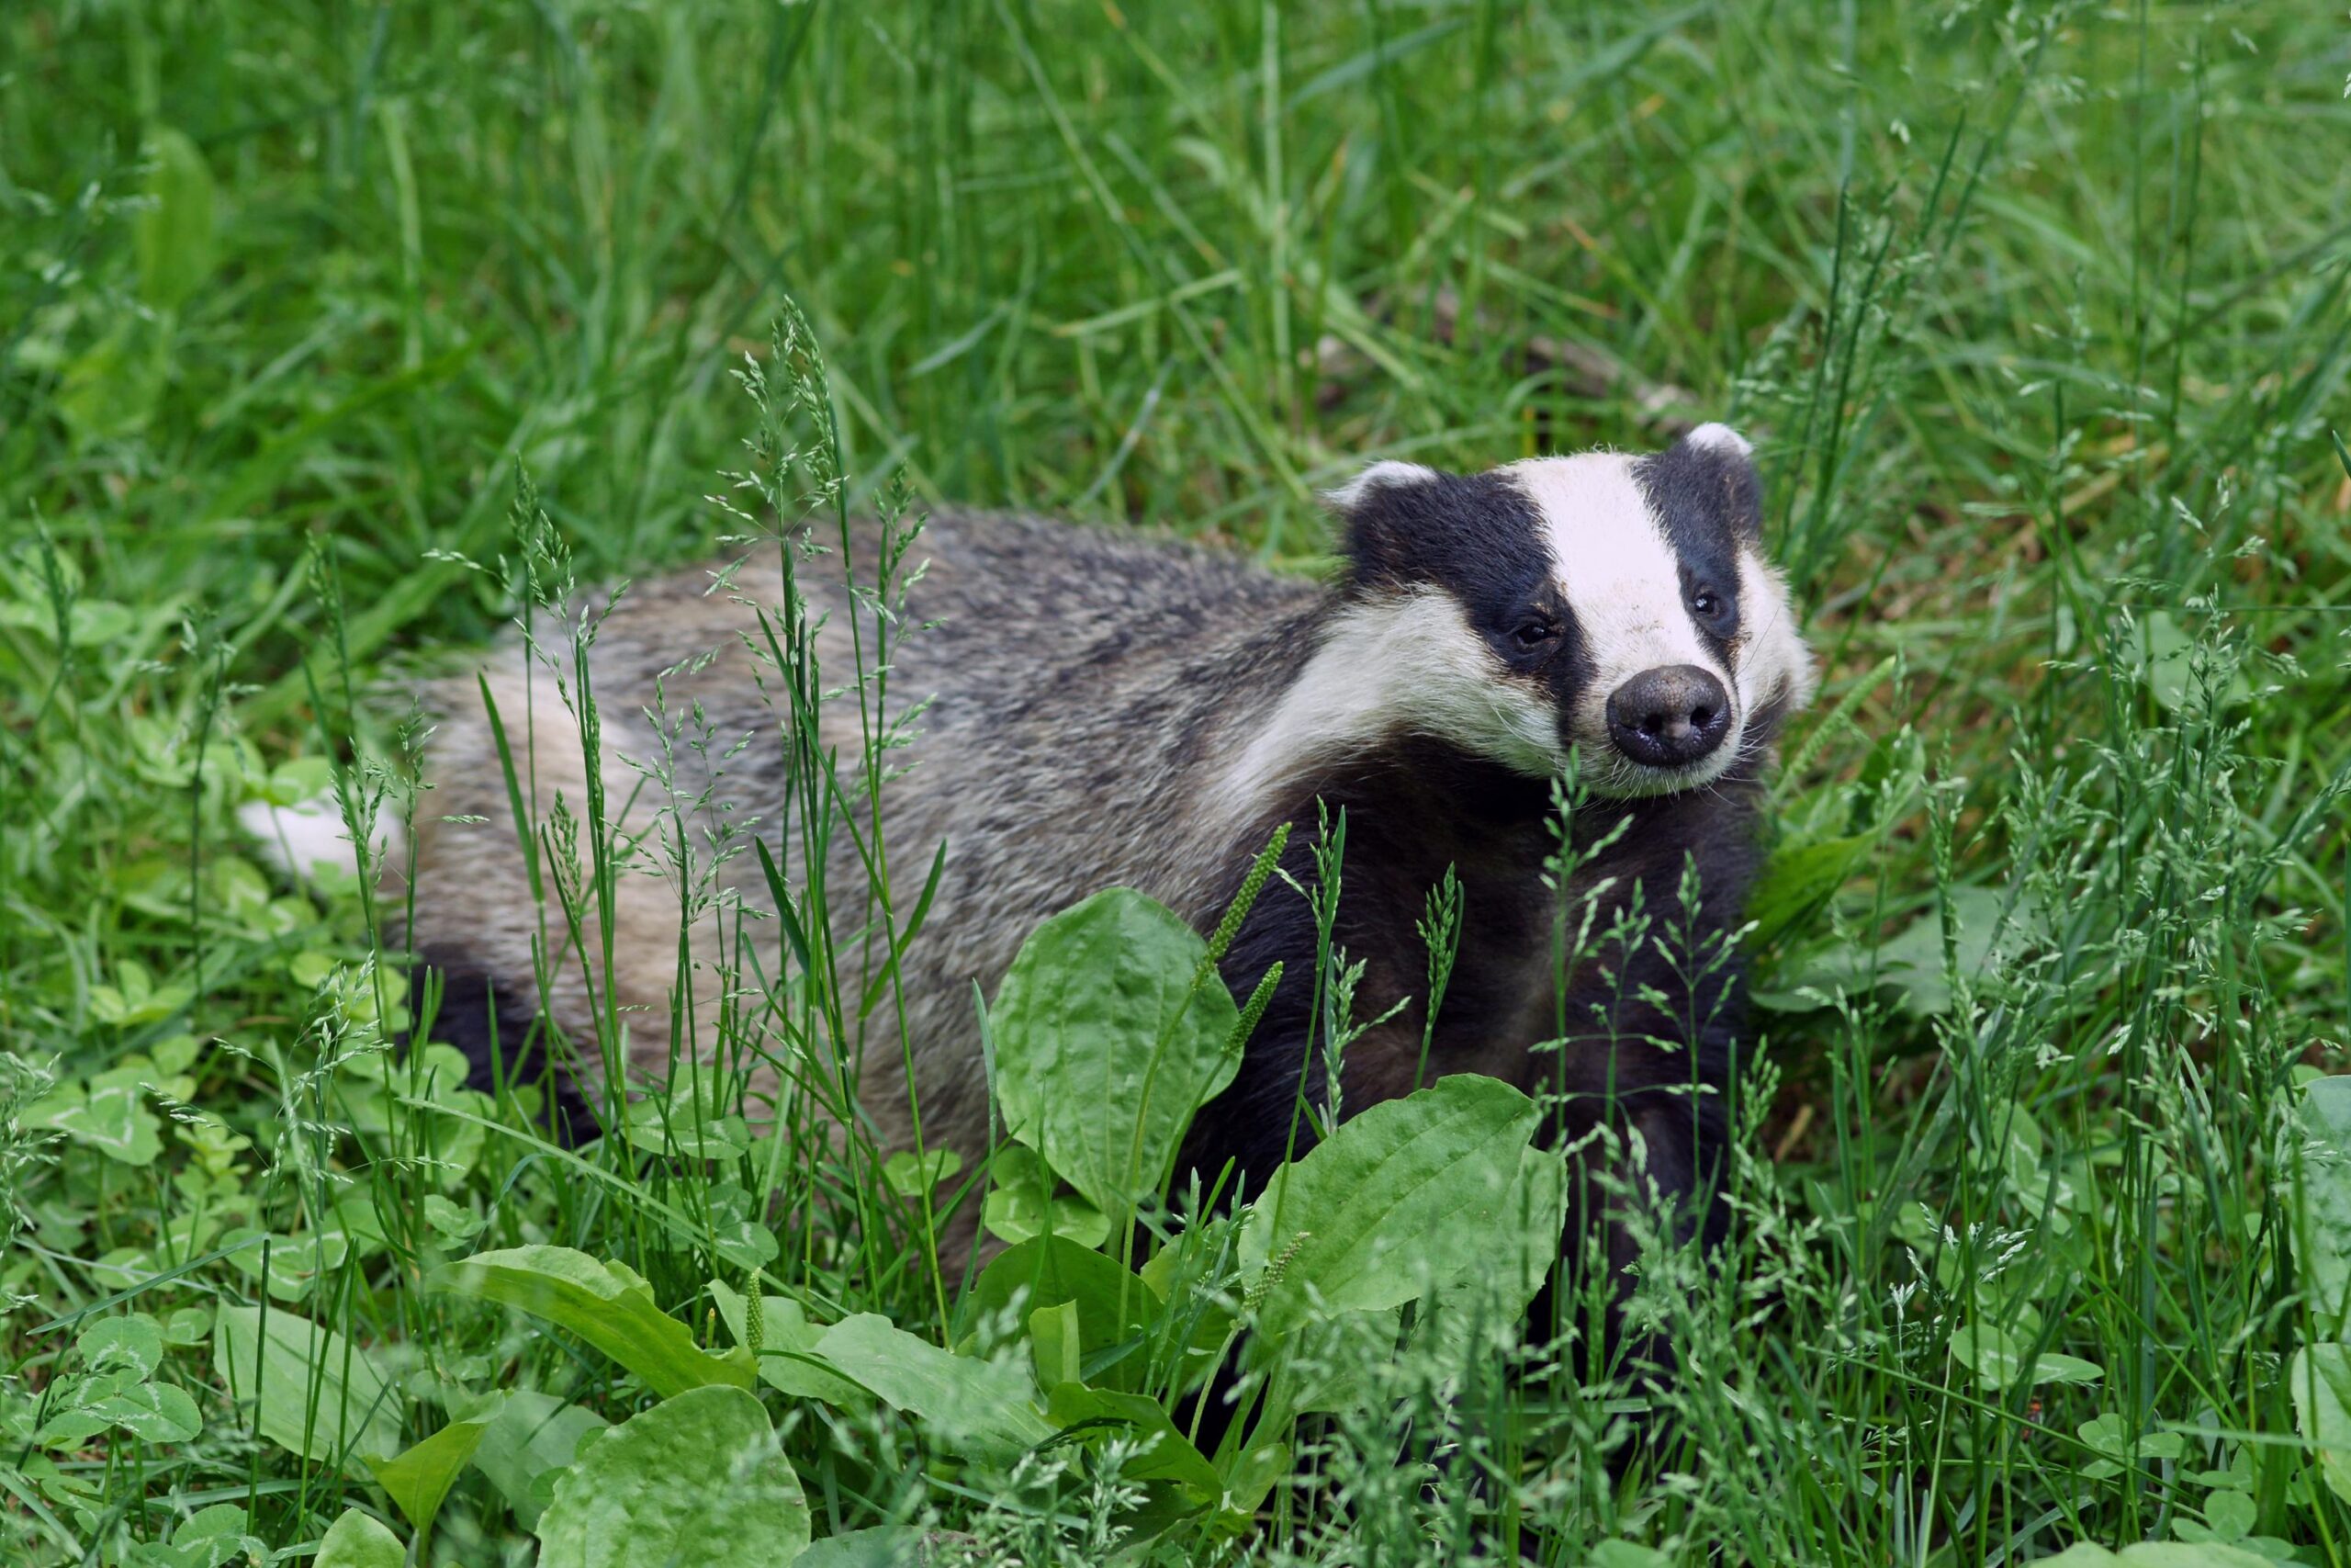
[[[1483,475],[1373,463],[1331,505],[1347,576],[1284,703],[1293,736],[1427,733],[1531,776],[1573,748],[1594,792],[1667,795],[1721,778],[1810,696],[1726,425]]]

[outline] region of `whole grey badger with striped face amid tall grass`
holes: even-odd
[[[1756,769],[1782,717],[1810,693],[1787,590],[1761,555],[1747,442],[1704,425],[1655,456],[1533,458],[1483,475],[1387,461],[1331,505],[1342,569],[1321,588],[1100,529],[931,517],[915,548],[929,567],[907,621],[933,625],[905,637],[891,668],[893,703],[931,705],[905,752],[912,769],[884,802],[900,863],[926,863],[940,839],[947,856],[903,964],[910,1051],[900,1053],[891,1009],[875,1009],[865,1112],[884,1145],[910,1143],[903,1060],[912,1060],[926,1145],[978,1157],[987,1084],[973,980],[994,987],[1041,919],[1112,884],[1206,929],[1279,823],[1293,825],[1286,870],[1312,884],[1321,804],[1347,823],[1335,940],[1366,964],[1357,1011],[1378,1016],[1408,999],[1347,1051],[1342,1105],[1408,1093],[1422,1067],[1566,1091],[1559,1135],[1582,1135],[1613,1103],[1620,1126],[1641,1131],[1646,1180],[1667,1197],[1702,1192],[1733,1088],[1735,980],[1716,969],[1693,994],[1690,954],[1648,940],[1585,964],[1561,999],[1556,893],[1542,865],[1554,849],[1554,778],[1575,750],[1589,788],[1575,839],[1599,842],[1629,818],[1570,889],[1606,884],[1594,929],[1606,931],[1608,912],[1641,889],[1653,931],[1688,940],[1686,860],[1700,872],[1697,940],[1721,940],[1740,922],[1756,865]],[[865,616],[870,628],[872,611],[844,592],[835,557],[804,564],[799,578],[828,616],[823,668],[842,679],[851,623]],[[734,595],[710,592],[708,574],[651,583],[595,635],[604,799],[625,835],[647,832],[665,804],[642,771],[661,750],[649,717],[656,679],[663,712],[701,705],[715,733],[698,771],[670,745],[677,771],[694,773],[675,788],[710,797],[698,825],[719,809],[738,825],[773,820],[783,804],[771,705],[781,698],[755,679],[741,599],[781,604],[778,567],[745,564]],[[679,663],[696,654],[708,663]],[[487,672],[517,752],[529,656],[513,646]],[[585,1041],[595,1001],[578,961],[560,966],[545,997],[531,978],[536,914],[473,679],[442,691],[440,708],[411,938],[447,976],[442,1030],[480,1053],[494,997],[505,1051],[541,1004]],[[536,816],[545,820],[557,795],[578,813],[581,745],[545,672],[536,712]],[[755,738],[724,755],[743,736]],[[856,752],[853,696],[825,703],[823,741]],[[1460,959],[1422,1063],[1427,950],[1415,922],[1448,867],[1462,891]],[[769,903],[755,858],[738,856],[722,875],[743,903]],[[835,867],[835,886],[844,884],[860,886],[846,844]],[[717,924],[705,919],[694,936],[703,964],[717,952]],[[661,1067],[677,889],[658,872],[623,875],[614,926],[614,999],[637,1065]],[[771,929],[759,940],[773,952]],[[1201,1112],[1187,1150],[1208,1180],[1227,1159],[1262,1178],[1291,1135],[1314,924],[1279,882],[1234,940],[1225,978],[1246,997],[1274,959],[1284,983],[1239,1079]],[[708,1016],[717,985],[703,978],[698,990]],[[1531,1051],[1559,1037],[1561,1016],[1568,1044]],[[1321,1098],[1321,1067],[1310,1074],[1307,1095]],[[1608,1251],[1622,1265],[1625,1237],[1610,1234]]]

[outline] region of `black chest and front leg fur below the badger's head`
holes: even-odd
[[[1349,1048],[1342,1105],[1359,1110],[1451,1072],[1507,1079],[1545,1100],[1545,1135],[1587,1161],[1620,1154],[1622,1133],[1636,1128],[1643,1187],[1653,1182],[1676,1206],[1676,1229],[1702,1229],[1712,1241],[1721,1229],[1714,1185],[1742,1023],[1730,933],[1756,872],[1759,795],[1751,769],[1740,769],[1704,792],[1582,806],[1573,816],[1580,844],[1622,830],[1561,896],[1545,884],[1545,860],[1559,849],[1547,780],[1439,741],[1406,741],[1302,788],[1288,811],[1284,870],[1314,886],[1317,799],[1333,830],[1345,818],[1333,945],[1364,964],[1359,1018],[1404,1001]],[[1697,872],[1688,912],[1686,865]],[[1462,886],[1462,929],[1422,1060],[1429,954],[1418,919],[1446,867]],[[1580,929],[1587,900],[1596,905],[1592,938],[1561,987],[1554,933]],[[1646,924],[1634,919],[1639,938],[1627,943],[1617,919],[1636,905]],[[1274,961],[1284,976],[1232,1088],[1194,1124],[1185,1157],[1204,1182],[1230,1161],[1232,1185],[1246,1194],[1293,1147],[1312,1147],[1312,1121],[1298,1107],[1326,1100],[1319,1044],[1310,1046],[1310,1037],[1319,1041],[1310,1030],[1314,947],[1312,907],[1277,879],[1225,959],[1234,994],[1248,994]],[[1643,1001],[1650,992],[1672,1006]],[[1594,1140],[1601,1124],[1617,1138]],[[1570,1227],[1570,1265],[1582,1251],[1578,1237],[1606,1206],[1599,1192],[1587,1204],[1592,1213]],[[1610,1267],[1625,1267],[1629,1234],[1608,1225],[1603,1251]]]

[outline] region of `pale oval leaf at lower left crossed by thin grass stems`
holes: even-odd
[[[357,1345],[282,1307],[221,1307],[212,1366],[254,1429],[306,1460],[357,1474],[400,1448],[400,1394]]]

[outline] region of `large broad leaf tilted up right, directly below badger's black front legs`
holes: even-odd
[[[1396,1307],[1427,1286],[1514,1258],[1519,1159],[1538,1107],[1476,1074],[1453,1074],[1345,1121],[1274,1171],[1241,1229],[1258,1326]]]

